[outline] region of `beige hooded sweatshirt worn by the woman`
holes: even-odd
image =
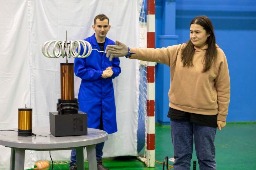
[[[225,121],[230,101],[228,63],[224,52],[216,45],[217,60],[210,70],[203,73],[204,55],[207,46],[195,47],[193,66],[183,67],[182,48],[186,44],[161,49],[130,48],[132,59],[166,64],[170,67],[171,82],[169,106],[171,108],[203,115],[217,115]]]

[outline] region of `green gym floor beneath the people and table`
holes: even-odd
[[[155,159],[162,162],[165,156],[172,158],[170,126],[156,125],[155,135]],[[228,123],[221,131],[217,130],[215,146],[218,170],[256,170],[256,122]],[[195,151],[191,165],[193,160],[197,161]],[[162,170],[160,163],[155,163],[155,168],[146,168],[144,163],[129,156],[103,158],[103,164],[110,170]],[[169,162],[169,165],[172,165],[172,162]],[[52,169],[51,167],[50,163],[49,170]],[[54,163],[53,169],[69,170],[69,164]],[[85,169],[88,169],[87,162]],[[197,170],[199,170],[198,164]]]

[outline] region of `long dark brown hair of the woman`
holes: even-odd
[[[204,56],[204,68],[203,73],[207,72],[211,67],[212,64],[216,61],[217,58],[217,50],[216,50],[216,40],[215,35],[213,32],[213,24],[212,21],[207,16],[197,16],[195,17],[191,24],[198,24],[202,26],[207,34],[210,34],[206,40],[206,44],[208,45],[208,49]],[[194,45],[191,40],[187,41],[187,45],[182,50],[181,61],[183,61],[183,67],[190,67],[193,66],[193,56],[194,56]]]

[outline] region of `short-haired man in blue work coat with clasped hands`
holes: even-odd
[[[84,39],[92,49],[105,51],[107,45],[114,45],[114,41],[106,37],[110,30],[109,19],[106,15],[97,15],[94,18],[92,29],[95,34]],[[87,58],[75,58],[75,75],[82,79],[78,102],[79,109],[87,113],[88,128],[101,129],[108,134],[117,131],[116,106],[114,103],[114,89],[112,79],[121,73],[119,58],[109,61],[106,53],[92,50]],[[80,55],[84,52],[81,46]],[[98,170],[107,170],[102,165],[102,149],[104,142],[96,145]],[[71,151],[70,170],[76,170],[76,152]]]

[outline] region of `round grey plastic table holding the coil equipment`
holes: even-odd
[[[81,136],[55,137],[50,133],[48,126],[33,127],[32,132],[37,136],[24,137],[18,136],[15,131],[0,131],[0,145],[11,148],[10,170],[24,170],[26,149],[34,151],[76,149],[77,168],[84,170],[84,147],[87,151],[89,169],[97,170],[95,146],[108,139],[107,132],[92,128],[88,128],[87,135]]]

